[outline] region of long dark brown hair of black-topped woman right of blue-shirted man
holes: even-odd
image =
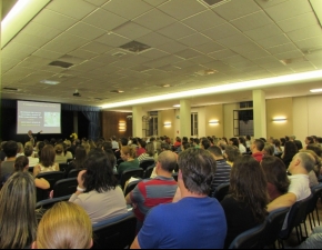
[[[253,157],[238,157],[230,172],[230,193],[249,206],[256,221],[263,221],[266,216],[266,184],[263,169]]]

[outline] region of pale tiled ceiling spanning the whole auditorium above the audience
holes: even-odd
[[[1,96],[100,107],[321,70],[322,29],[312,2],[316,0],[224,0],[215,6],[202,0],[52,0],[2,44]],[[131,41],[149,49],[120,48]],[[51,66],[54,61],[71,64]],[[263,89],[266,98],[280,98],[321,87],[316,79]],[[252,91],[189,99],[195,107],[239,102],[251,100]],[[179,100],[142,106],[169,109]]]

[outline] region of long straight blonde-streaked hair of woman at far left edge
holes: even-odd
[[[36,239],[36,186],[28,171],[14,172],[0,192],[0,249],[24,249]]]

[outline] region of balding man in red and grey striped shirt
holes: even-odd
[[[161,152],[155,167],[158,176],[152,180],[140,181],[133,191],[125,197],[128,204],[133,203],[133,211],[138,218],[138,231],[151,208],[160,203],[172,202],[178,187],[172,177],[172,171],[175,167],[177,154],[171,151]]]

